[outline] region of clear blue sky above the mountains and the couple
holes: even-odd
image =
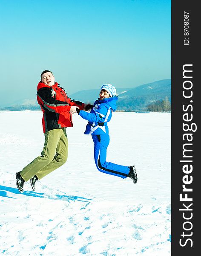
[[[69,95],[171,78],[170,0],[0,0],[0,31],[0,107],[46,69]]]

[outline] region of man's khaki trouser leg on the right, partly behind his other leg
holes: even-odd
[[[36,176],[39,179],[42,179],[43,177],[48,175],[50,172],[52,172],[55,169],[62,166],[67,161],[67,158],[68,158],[68,138],[67,138],[67,135],[66,135],[66,128],[62,128],[60,130],[63,131],[63,134],[60,137],[60,140],[58,142],[55,157],[53,158],[53,160],[48,165],[46,165],[43,169],[40,169],[40,171],[36,173]]]

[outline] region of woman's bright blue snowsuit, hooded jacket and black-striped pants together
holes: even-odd
[[[107,123],[112,118],[112,111],[116,110],[118,97],[96,100],[90,113],[80,110],[79,116],[89,121],[84,134],[91,134],[94,142],[94,159],[97,169],[110,175],[125,179],[129,174],[128,166],[106,162],[107,147],[109,145],[109,130]]]

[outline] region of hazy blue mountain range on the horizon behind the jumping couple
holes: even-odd
[[[168,99],[171,102],[171,79],[154,81],[148,84],[142,84],[132,88],[116,88],[118,101],[117,110],[132,111],[140,110],[146,111],[147,105]],[[98,99],[100,89],[81,90],[77,93],[69,95],[71,99],[75,99],[85,103],[93,104]],[[0,108],[0,110],[40,110],[39,105],[35,99],[26,99],[18,102],[16,105],[10,107]]]

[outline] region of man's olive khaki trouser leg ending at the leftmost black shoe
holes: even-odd
[[[41,156],[36,157],[20,172],[21,177],[23,177],[25,181],[32,178],[38,171],[52,162],[62,135],[62,129],[54,129],[45,133],[45,143]]]

